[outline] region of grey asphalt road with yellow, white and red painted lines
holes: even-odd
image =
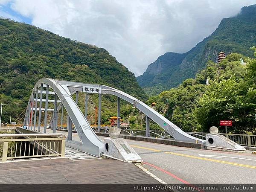
[[[78,134],[73,134],[73,140],[79,140]],[[142,157],[143,167],[166,183],[256,183],[256,155],[250,151],[233,153],[127,142]]]

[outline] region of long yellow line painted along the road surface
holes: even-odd
[[[149,150],[149,151],[162,152],[161,150],[154,149],[154,148],[141,147],[141,146],[137,146],[137,145],[131,145],[131,146],[135,147],[135,148],[146,149],[146,150]],[[239,164],[239,163],[232,163],[232,162],[228,162],[228,161],[221,161],[221,160],[209,159],[209,158],[204,158],[204,157],[196,157],[196,156],[192,156],[192,155],[186,155],[186,154],[181,154],[181,153],[173,153],[173,152],[169,152],[169,151],[165,151],[164,153],[183,156],[183,157],[190,157],[190,158],[194,158],[194,159],[206,160],[206,161],[213,161],[213,162],[217,162],[217,163],[224,163],[224,164],[229,164],[229,165],[234,165],[234,166],[241,166],[241,167],[256,169],[256,166],[244,165],[244,164]]]

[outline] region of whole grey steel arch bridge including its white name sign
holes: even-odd
[[[51,89],[51,91],[49,91],[49,89]],[[82,113],[82,111],[79,109],[77,105],[79,92],[84,92],[86,94],[85,114]],[[52,132],[55,133],[58,121],[58,111],[62,108],[63,115],[64,107],[68,114],[67,143],[69,143],[69,145],[73,147],[80,148],[82,151],[85,151],[88,154],[92,154],[94,156],[99,157],[103,153],[103,142],[94,133],[94,131],[90,127],[90,123],[86,119],[87,93],[99,94],[98,130],[100,129],[101,95],[110,94],[117,96],[118,98],[118,127],[120,125],[120,99],[123,99],[131,103],[135,108],[139,109],[141,112],[145,114],[147,137],[149,137],[149,121],[151,119],[158,125],[160,125],[160,127],[162,127],[164,130],[166,130],[177,141],[191,143],[204,143],[205,141],[198,139],[196,137],[192,137],[189,134],[186,134],[184,131],[182,131],[175,124],[166,119],[164,116],[157,113],[157,111],[154,111],[154,109],[150,108],[148,105],[144,104],[143,102],[134,98],[133,96],[124,93],[121,90],[117,90],[115,88],[108,87],[105,85],[86,84],[72,81],[60,81],[55,79],[40,79],[35,84],[29,98],[23,125],[27,125],[29,129],[33,129],[34,131],[37,128],[38,132],[40,132],[41,116],[43,114],[42,112],[44,112],[44,122],[42,123],[44,124],[44,133],[46,133],[48,111],[53,111],[50,124],[52,125]],[[74,101],[74,99],[72,98],[73,94],[76,94],[76,101]],[[45,95],[45,99],[43,99],[43,95]],[[49,95],[54,95],[54,100],[50,100]],[[42,108],[43,102],[45,103],[44,108]],[[49,102],[54,103],[53,109],[48,108]],[[72,140],[72,124],[76,128],[81,143]]]

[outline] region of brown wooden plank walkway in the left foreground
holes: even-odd
[[[0,163],[0,183],[158,183],[136,165],[110,159],[55,158]]]

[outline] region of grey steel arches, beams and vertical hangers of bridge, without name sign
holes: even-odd
[[[46,84],[46,86],[45,86]],[[41,87],[39,91],[39,87]],[[49,88],[45,91],[43,90],[43,87],[50,87],[53,91],[49,91]],[[129,103],[131,103],[135,108],[143,112],[146,116],[146,125],[147,125],[147,136],[149,136],[149,121],[150,119],[156,122],[160,127],[162,127],[164,130],[166,130],[172,137],[174,137],[175,140],[183,141],[183,142],[191,142],[191,143],[204,143],[205,140],[198,139],[196,137],[192,137],[189,134],[186,134],[183,132],[180,128],[178,128],[175,124],[170,122],[168,119],[166,119],[161,114],[154,111],[154,109],[150,108],[148,105],[145,105],[140,100],[134,98],[133,96],[130,96],[127,93],[124,93],[121,90],[117,90],[112,87],[108,87],[105,85],[99,85],[99,84],[85,84],[85,83],[79,83],[79,82],[72,82],[72,81],[59,81],[54,79],[41,79],[36,84],[35,87],[31,93],[28,107],[24,119],[24,125],[29,123],[30,118],[30,105],[31,103],[34,103],[34,96],[35,93],[40,93],[40,104],[39,104],[39,117],[41,117],[41,110],[42,110],[42,94],[46,93],[46,99],[45,99],[45,110],[47,112],[47,105],[48,105],[48,95],[55,94],[55,96],[58,96],[58,98],[61,101],[61,106],[59,105],[58,110],[59,111],[62,106],[66,109],[68,113],[68,140],[72,140],[72,124],[75,126],[77,133],[79,134],[80,140],[82,142],[82,148],[83,151],[93,154],[95,156],[100,156],[103,153],[103,142],[99,139],[99,137],[96,136],[92,128],[90,127],[89,122],[87,121],[87,109],[85,109],[85,116],[79,109],[77,103],[78,103],[78,93],[84,92],[86,94],[86,100],[85,105],[87,106],[88,102],[88,93],[84,91],[84,87],[96,87],[99,88],[101,91],[98,92],[99,94],[99,115],[98,115],[98,129],[100,126],[100,113],[101,113],[101,94],[110,94],[114,95],[118,98],[117,102],[117,116],[118,119],[120,118],[120,99],[123,99]],[[47,94],[48,93],[48,94]],[[76,93],[76,101],[73,100],[72,95]],[[96,92],[95,92],[96,93]],[[55,97],[55,105],[57,105],[58,100],[57,97]],[[33,108],[32,108],[33,109]],[[54,112],[56,113],[56,108],[54,108]],[[45,112],[45,113],[46,113]],[[54,114],[55,114],[54,113]],[[63,112],[62,112],[63,114]],[[63,116],[63,115],[62,115]],[[40,128],[40,119],[38,117],[38,130]],[[34,117],[35,118],[35,117]],[[54,123],[53,126],[56,125],[55,122],[56,116],[54,116]],[[34,123],[35,124],[35,123]],[[44,128],[46,128],[47,124],[47,115],[45,114],[44,118]],[[45,130],[45,129],[44,129]]]

